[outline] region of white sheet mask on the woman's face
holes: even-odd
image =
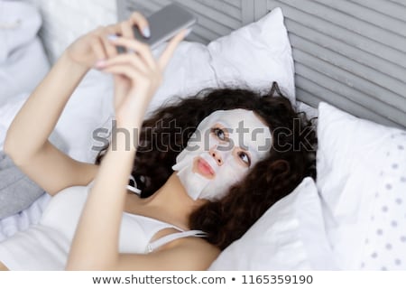
[[[198,125],[172,167],[193,200],[219,200],[270,151],[268,126],[250,110],[217,110]]]

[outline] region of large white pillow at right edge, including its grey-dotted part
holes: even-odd
[[[406,269],[406,132],[318,107],[318,191],[341,269]]]

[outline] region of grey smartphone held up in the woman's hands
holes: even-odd
[[[154,49],[162,42],[170,40],[182,29],[191,28],[196,23],[197,18],[186,8],[171,4],[163,7],[158,12],[147,18],[150,25],[151,36],[146,38],[140,33],[137,26],[134,26],[134,37],[138,41],[147,43]],[[118,53],[124,53],[124,47],[117,47]]]

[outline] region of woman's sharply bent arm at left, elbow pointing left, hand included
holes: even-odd
[[[88,70],[97,61],[116,54],[114,45],[109,44],[106,37],[118,33],[123,33],[123,25],[110,25],[72,43],[32,92],[7,132],[5,153],[51,194],[72,185],[85,185],[96,175],[97,165],[71,159],[53,146],[48,138],[71,94]]]

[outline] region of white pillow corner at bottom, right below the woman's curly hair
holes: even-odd
[[[276,202],[209,270],[334,270],[316,184],[305,178]]]

